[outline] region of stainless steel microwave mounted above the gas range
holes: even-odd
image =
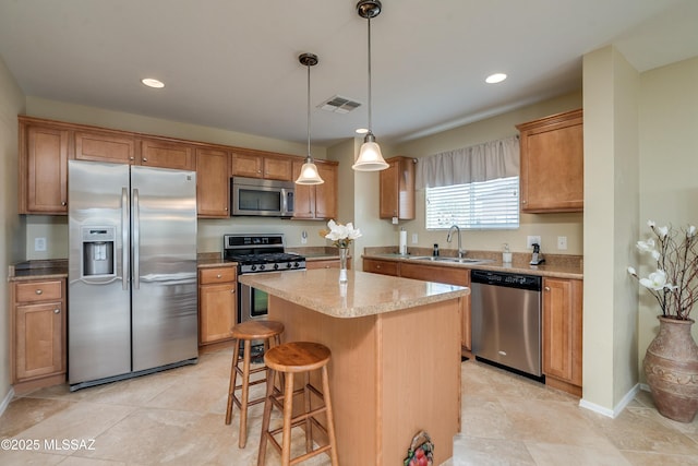
[[[230,200],[233,216],[292,217],[292,181],[232,177]]]

